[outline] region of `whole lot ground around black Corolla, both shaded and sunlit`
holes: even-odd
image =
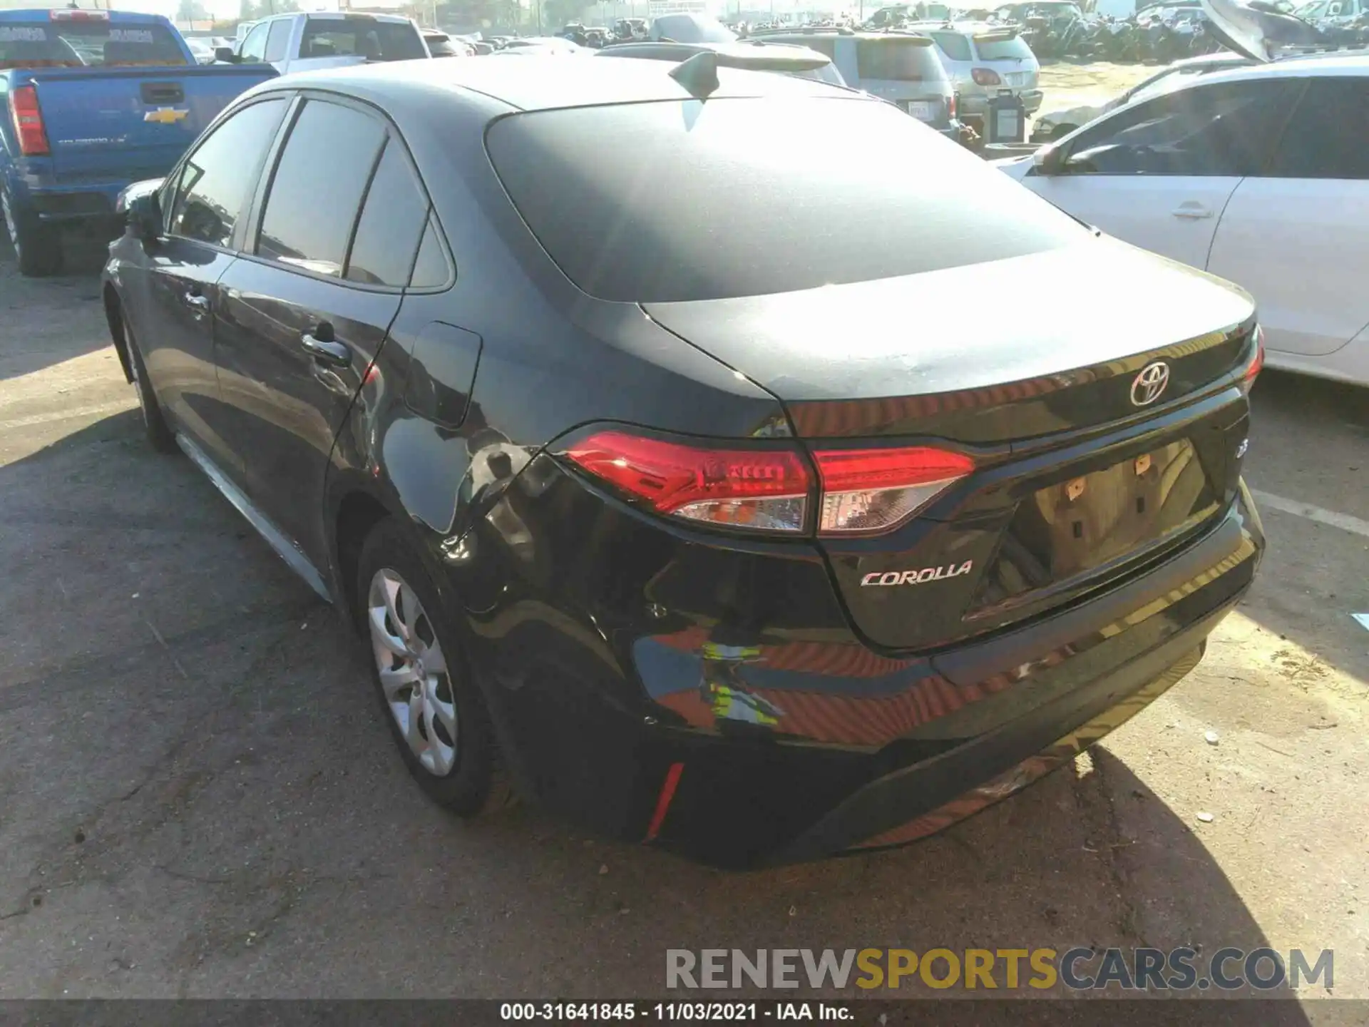
[[[0,255],[0,998],[623,997],[667,948],[1075,943],[1329,948],[1369,998],[1365,392],[1261,381],[1258,585],[1091,759],[909,849],[731,875],[424,802],[338,622],[144,444],[94,270]]]

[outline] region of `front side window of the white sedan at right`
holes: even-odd
[[[1288,103],[1288,86],[1279,79],[1197,85],[1083,131],[1065,167],[1103,175],[1258,174]]]

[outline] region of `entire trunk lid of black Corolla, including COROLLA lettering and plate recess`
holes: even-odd
[[[1060,281],[1068,309],[1040,297]],[[1253,304],[1124,244],[646,311],[772,390],[813,449],[975,457],[902,527],[819,540],[853,623],[884,649],[1073,601],[1162,559],[1235,493],[1244,398],[1192,394],[1243,366]]]

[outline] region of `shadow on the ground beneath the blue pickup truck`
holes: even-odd
[[[62,274],[51,278],[25,279],[30,286],[26,289],[26,322],[42,327],[23,338],[11,337],[14,341],[7,342],[5,353],[0,357],[0,381],[33,374],[110,345],[108,334],[77,334],[60,331],[56,327],[47,330],[44,322],[57,323],[57,319],[42,318],[44,308],[66,309],[74,304],[100,303],[100,270],[104,267],[105,241],[68,240],[63,252],[66,262]],[[15,264],[8,238],[0,231],[0,283],[5,278],[18,279],[19,268]],[[0,285],[0,290],[3,290],[3,285]],[[16,300],[8,300],[4,305],[8,309],[18,309]],[[0,322],[3,319],[4,309],[0,309]]]

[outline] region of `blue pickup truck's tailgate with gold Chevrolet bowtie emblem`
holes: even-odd
[[[57,183],[156,178],[230,100],[275,75],[253,67],[36,70]]]

